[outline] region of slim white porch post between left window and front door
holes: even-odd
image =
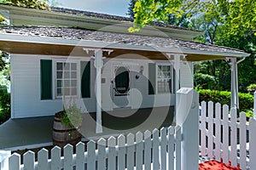
[[[102,133],[102,49],[95,51],[96,67],[96,133]]]

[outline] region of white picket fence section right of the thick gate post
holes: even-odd
[[[201,102],[200,151],[201,156],[241,169],[256,169],[256,121],[246,120],[245,113],[236,116],[236,109],[228,105]],[[250,152],[249,152],[250,148]]]

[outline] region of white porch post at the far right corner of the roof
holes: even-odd
[[[231,59],[231,108],[239,109],[238,75],[236,58]]]

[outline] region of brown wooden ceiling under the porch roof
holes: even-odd
[[[86,54],[83,50],[84,46],[60,45],[60,44],[45,44],[33,42],[4,42],[0,41],[0,49],[10,54],[42,54],[42,55],[60,55],[60,56],[79,56],[90,57],[93,54]],[[91,48],[91,47],[88,47]],[[105,48],[108,49],[108,48]],[[113,48],[111,48],[113,49]],[[180,53],[185,54],[185,53]],[[224,59],[226,56],[207,55],[207,54],[185,54],[185,60],[200,61],[207,59]],[[113,49],[113,53],[107,54],[103,52],[103,56],[108,58],[123,58],[123,59],[158,59],[167,60],[165,52],[146,51],[136,49]]]

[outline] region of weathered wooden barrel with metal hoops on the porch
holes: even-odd
[[[66,144],[77,144],[81,141],[82,135],[74,127],[69,127],[61,123],[61,117],[55,115],[53,123],[53,144],[60,147]]]

